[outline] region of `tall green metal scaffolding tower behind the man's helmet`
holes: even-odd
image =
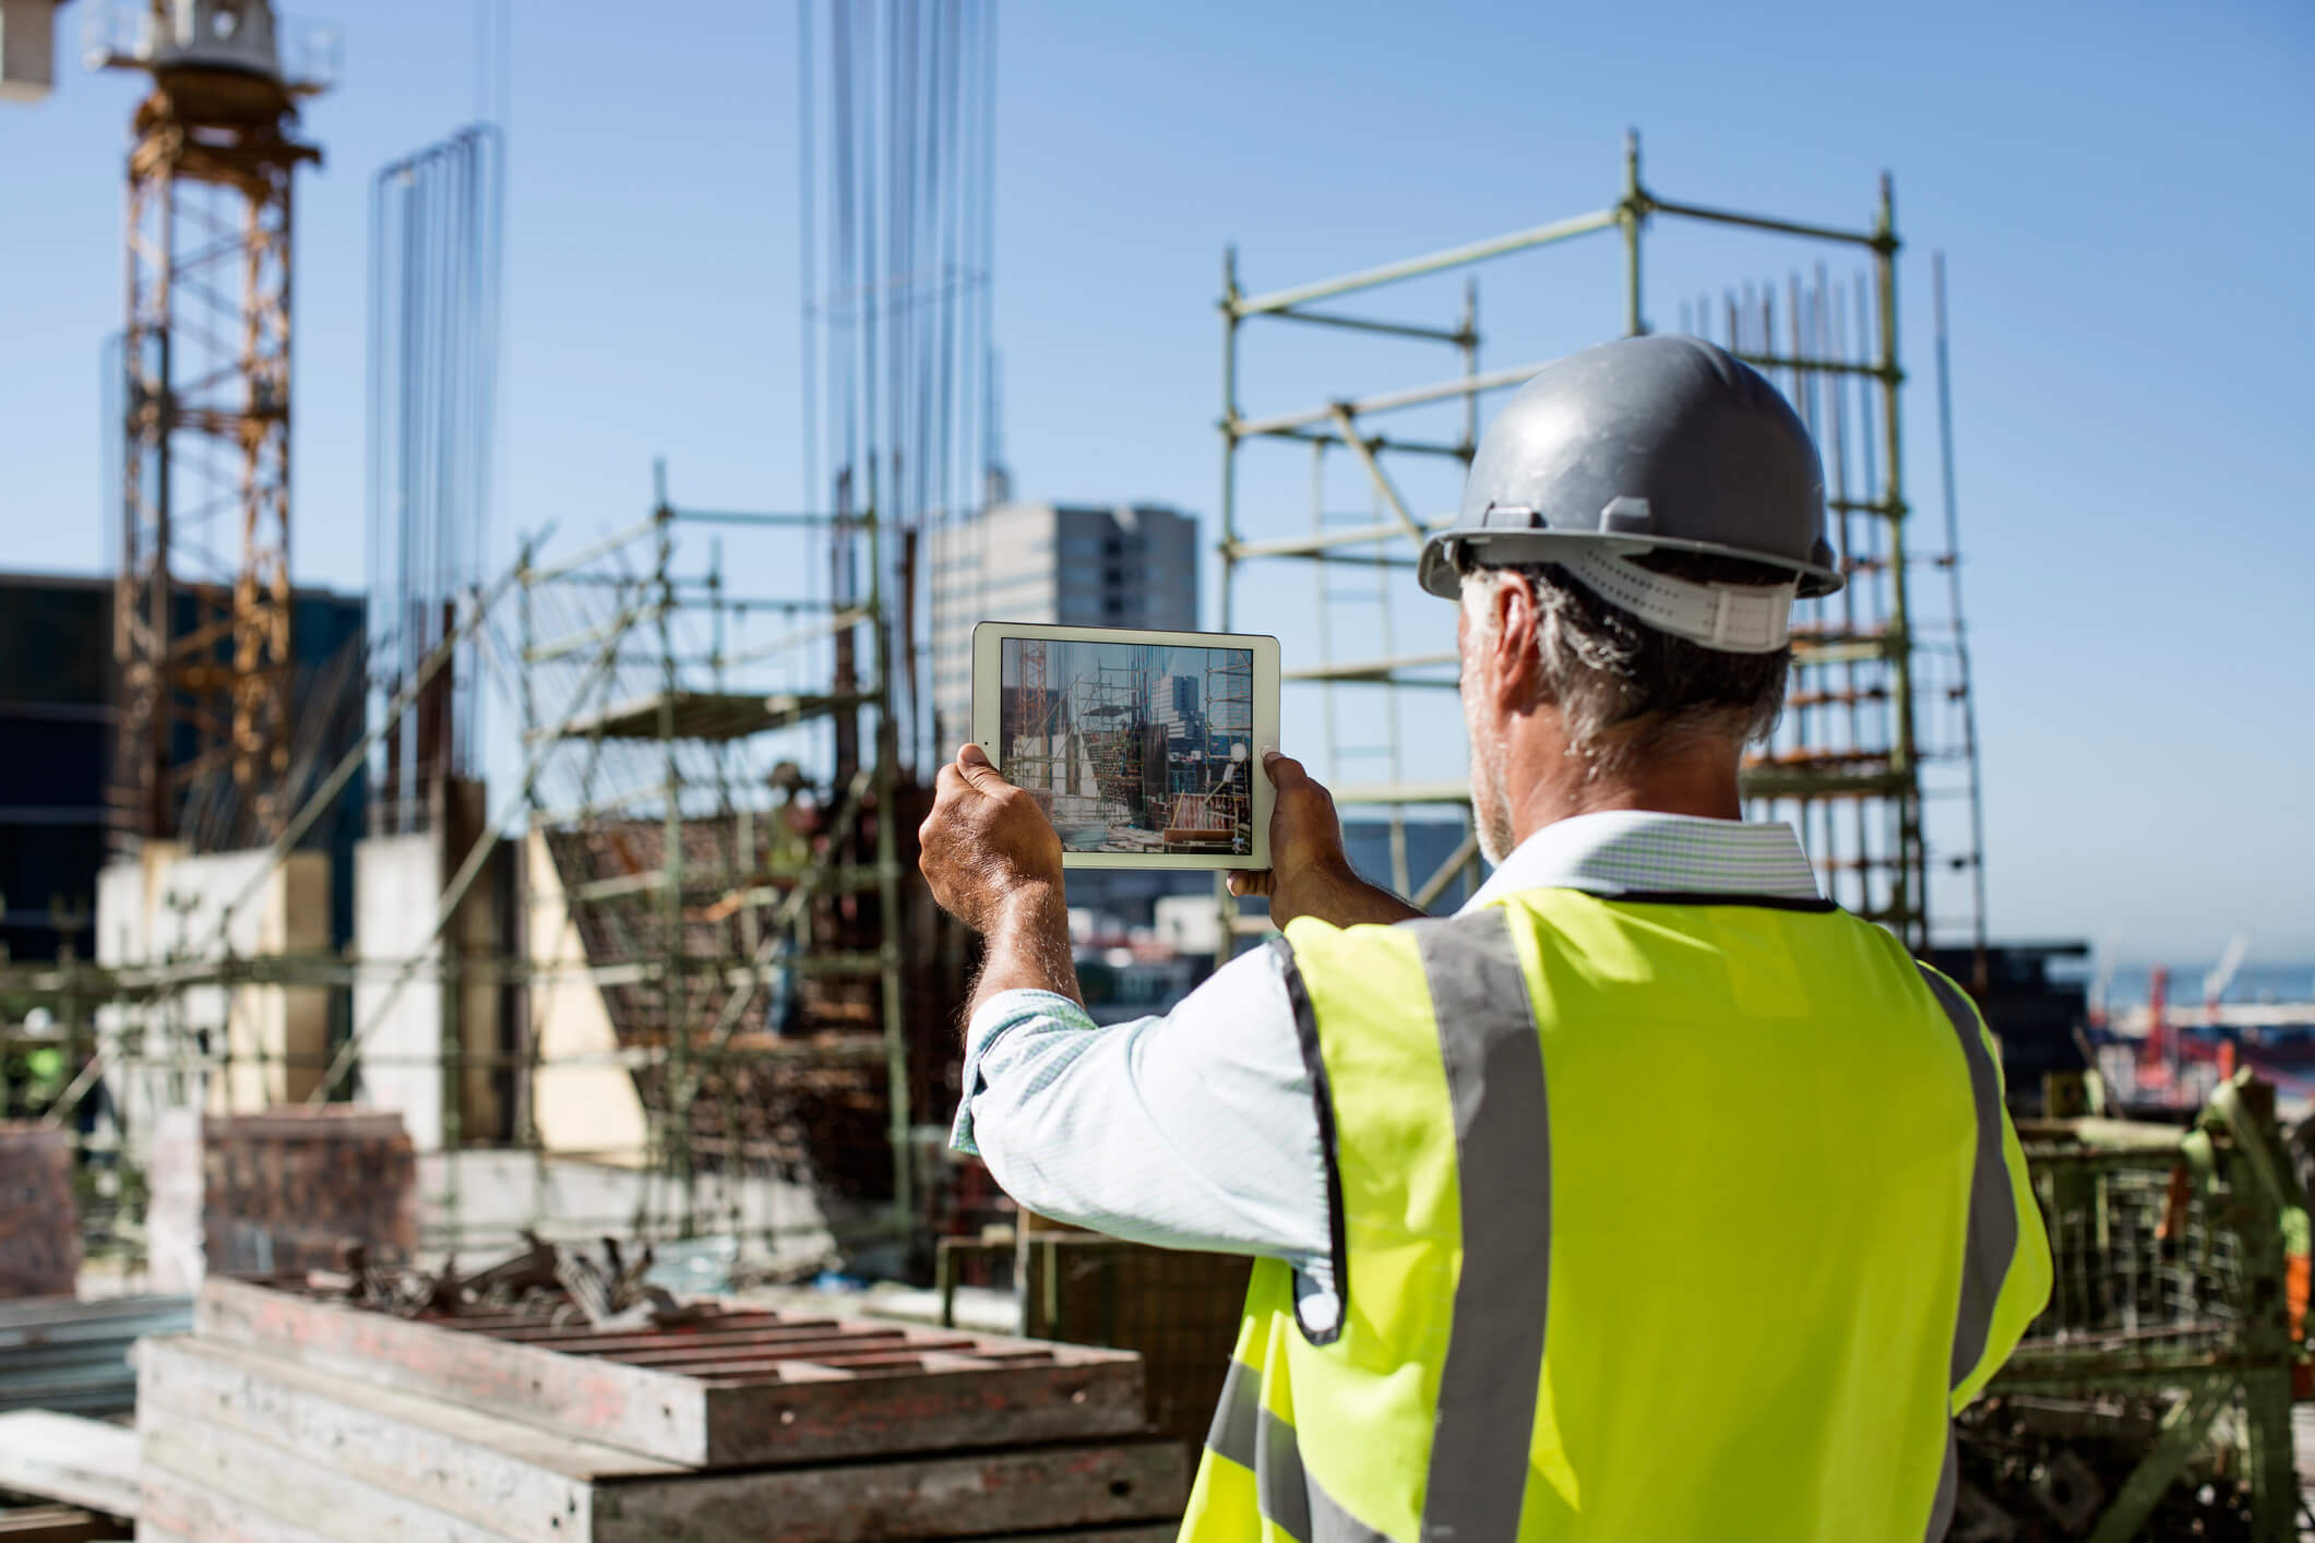
[[[1815,252],[1808,280],[1794,271],[1783,287],[1746,285],[1718,303],[1681,303],[1683,331],[1713,338],[1769,375],[1817,437],[1827,463],[1831,537],[1850,581],[1836,597],[1801,601],[1794,615],[1792,694],[1776,736],[1746,761],[1748,814],[1789,819],[1801,830],[1827,893],[1887,925],[1915,951],[1931,946],[1931,874],[1970,874],[1972,886],[1956,902],[1940,898],[1938,921],[1947,937],[1975,942],[1982,958],[1975,733],[1952,509],[1947,551],[1924,558],[1908,537],[1910,504],[1898,433],[1905,370],[1898,359],[1898,236],[1889,178],[1882,178],[1871,224],[1840,229],[1651,192],[1641,183],[1637,136],[1625,141],[1623,171],[1623,197],[1607,208],[1310,285],[1248,294],[1239,285],[1236,252],[1225,254],[1222,627],[1252,620],[1245,604],[1250,564],[1313,564],[1317,659],[1283,678],[1317,699],[1329,775],[1338,780],[1336,803],[1380,807],[1387,814],[1394,835],[1391,881],[1417,905],[1431,905],[1456,874],[1475,881],[1479,844],[1470,826],[1468,784],[1461,777],[1408,777],[1401,750],[1412,719],[1419,713],[1435,715],[1435,703],[1454,692],[1456,666],[1445,636],[1440,645],[1421,650],[1401,641],[1394,620],[1394,599],[1410,592],[1421,541],[1449,518],[1421,514],[1408,488],[1414,479],[1428,479],[1426,493],[1452,507],[1454,488],[1477,449],[1479,398],[1521,386],[1549,361],[1482,368],[1477,287],[1463,271],[1583,236],[1618,234],[1620,331],[1639,335],[1648,331],[1641,259],[1644,231],[1653,224],[1678,222],[1803,243]],[[1831,261],[1838,254],[1861,257],[1868,273],[1854,282],[1836,280]],[[1456,273],[1465,282],[1461,305],[1447,322],[1336,308],[1345,296]],[[1445,347],[1458,372],[1414,386],[1331,393],[1315,407],[1248,412],[1241,407],[1241,389],[1250,375],[1248,335],[1257,324],[1264,324],[1262,335],[1278,333],[1280,322],[1326,328],[1345,349]],[[1361,354],[1352,368],[1370,379],[1377,366]],[[1380,428],[1382,419],[1394,428]],[[1283,509],[1283,497],[1262,495],[1257,502],[1245,495],[1243,483],[1252,470],[1248,451],[1264,444],[1306,449],[1310,516],[1301,530],[1257,514]],[[1359,477],[1364,511],[1343,514],[1329,497],[1329,467],[1345,456]],[[1942,567],[1952,576],[1949,611],[1940,618],[1924,613],[1921,585],[1910,583],[1921,567]],[[1271,590],[1262,595],[1269,599]],[[1370,643],[1357,657],[1338,657],[1336,641],[1345,632]],[[1359,708],[1343,706],[1352,694],[1364,694]],[[1294,706],[1294,696],[1287,706]],[[1345,743],[1345,722],[1368,724],[1370,733]],[[1368,766],[1380,775],[1368,773]],[[1931,851],[1924,798],[1947,796],[1968,798],[1970,819]],[[1465,821],[1463,842],[1428,877],[1410,874],[1405,858],[1405,817],[1419,805],[1461,807]],[[1266,925],[1262,918],[1239,918],[1227,893],[1218,891],[1218,898],[1225,939]]]

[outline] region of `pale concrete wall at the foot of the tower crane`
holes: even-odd
[[[227,907],[250,886],[248,902]],[[185,856],[146,842],[137,858],[97,874],[97,962],[215,962],[329,951],[329,856],[264,851]],[[106,1006],[97,1032],[137,1062],[106,1076],[130,1131],[162,1108],[250,1113],[299,1103],[329,1055],[329,992],[317,985],[190,985],[150,1006]],[[206,1046],[206,1050],[204,1050]],[[222,1064],[194,1066],[194,1057]]]

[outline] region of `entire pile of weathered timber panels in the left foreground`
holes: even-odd
[[[1164,1543],[1139,1358],[708,1307],[419,1319],[211,1277],[139,1346],[139,1538]]]

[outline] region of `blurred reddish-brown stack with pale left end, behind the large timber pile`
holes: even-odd
[[[347,1242],[380,1261],[417,1247],[417,1154],[391,1110],[174,1110],[153,1166],[169,1175],[155,1177],[150,1210],[153,1282],[164,1291],[190,1291],[204,1270],[324,1270]]]

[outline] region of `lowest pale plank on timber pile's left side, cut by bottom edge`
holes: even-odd
[[[139,1411],[139,1418],[141,1411]],[[329,1538],[331,1543],[400,1543],[424,1538],[426,1543],[507,1543],[502,1531],[479,1527],[465,1518],[426,1506],[407,1494],[396,1494],[377,1485],[361,1483],[338,1469],[333,1460],[313,1460],[287,1453],[271,1441],[243,1437],[213,1420],[160,1418],[141,1423],[144,1460],[148,1471],[190,1478],[201,1490],[227,1501],[243,1501],[232,1508],[232,1522],[252,1541],[289,1527],[289,1536]],[[155,1499],[162,1527],[176,1518]],[[215,1511],[215,1501],[211,1501]],[[194,1527],[194,1536],[211,1531]],[[227,1534],[236,1536],[236,1534]],[[266,1538],[271,1543],[271,1538]]]

